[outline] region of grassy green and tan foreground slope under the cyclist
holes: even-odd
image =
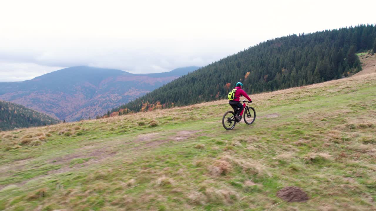
[[[376,209],[375,73],[252,99],[231,131],[223,100],[2,132],[0,209]]]

